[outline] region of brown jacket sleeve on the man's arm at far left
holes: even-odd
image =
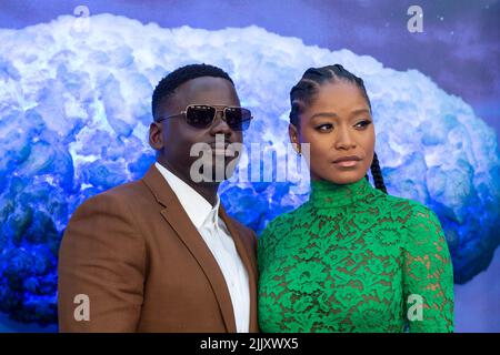
[[[111,194],[73,214],[59,252],[61,332],[134,332],[140,317],[146,247],[126,203]],[[77,321],[77,295],[87,295],[90,320]]]

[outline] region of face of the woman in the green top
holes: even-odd
[[[290,124],[289,134],[292,143],[310,143],[311,180],[357,182],[373,160],[370,108],[361,90],[347,81],[322,84],[300,115],[300,126]],[[347,156],[354,160],[338,162]]]

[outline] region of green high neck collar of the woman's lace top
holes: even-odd
[[[311,181],[309,201],[318,209],[339,207],[364,199],[372,189],[366,178],[349,184]]]

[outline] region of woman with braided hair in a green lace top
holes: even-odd
[[[311,68],[290,100],[290,140],[299,154],[310,143],[311,194],[260,237],[261,331],[452,332],[441,225],[387,194],[363,81],[339,64]]]

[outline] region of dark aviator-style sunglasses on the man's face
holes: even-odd
[[[189,125],[197,129],[206,129],[212,124],[217,111],[222,111],[222,120],[224,120],[233,131],[247,130],[250,125],[250,120],[252,119],[250,110],[243,108],[190,104],[186,108],[186,111],[174,115],[159,118],[157,122],[186,115],[186,122]]]

